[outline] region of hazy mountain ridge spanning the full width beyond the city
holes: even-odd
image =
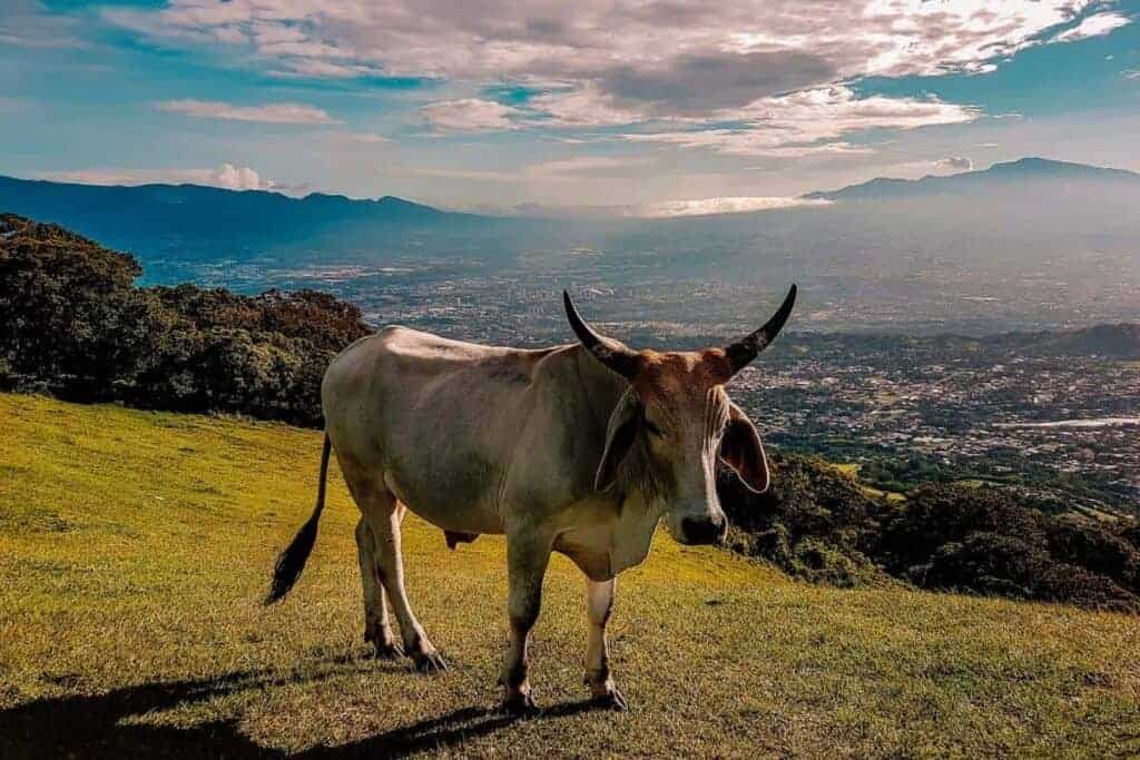
[[[830,202],[811,203],[821,197]],[[1132,271],[1140,175],[1031,158],[946,178],[872,180],[811,194],[799,205],[804,207],[660,219],[544,219],[449,212],[391,195],[356,199],[312,193],[295,198],[198,185],[89,186],[0,177],[0,211],[58,223],[130,251],[145,264],[148,281],[157,284],[181,281],[187,267],[199,265],[214,267],[211,276],[229,281],[234,262],[253,263],[255,272],[302,263],[399,261],[489,271],[540,260],[544,267],[570,271],[578,260],[567,252],[579,248],[606,252],[608,261],[626,275],[634,265],[629,254],[653,252],[644,262],[671,278],[750,278],[763,263],[774,278],[814,271],[873,279],[881,267],[914,255],[915,245],[926,259],[943,251],[930,261],[964,272],[1008,269],[1021,252],[1040,256],[1048,251],[1053,276],[1072,273],[1092,283],[1104,267],[1074,263],[1073,252],[1115,256],[1124,271]],[[903,206],[905,213],[899,213]],[[706,253],[694,255],[698,250]],[[995,259],[994,252],[1001,255]],[[1026,265],[1032,262],[1020,262],[1013,271]],[[975,311],[955,310],[955,319],[959,313]],[[1118,316],[1119,309],[1102,319]]]

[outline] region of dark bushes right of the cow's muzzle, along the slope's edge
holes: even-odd
[[[723,472],[738,551],[816,582],[882,573],[920,588],[1140,612],[1140,528],[1042,513],[1015,491],[927,485],[887,502],[822,459],[780,456],[767,493]]]

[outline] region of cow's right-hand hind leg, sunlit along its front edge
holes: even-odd
[[[388,591],[392,612],[400,624],[404,651],[416,663],[421,672],[447,670],[443,657],[427,639],[423,627],[412,612],[408,595],[404,588],[404,556],[400,554],[400,523],[405,507],[382,483],[369,482],[350,485],[357,505],[364,513],[374,539],[373,555],[376,559],[376,577]]]

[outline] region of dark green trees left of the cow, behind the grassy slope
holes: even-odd
[[[324,293],[139,288],[140,273],[128,254],[0,216],[0,384],[316,426],[325,367],[369,332]]]

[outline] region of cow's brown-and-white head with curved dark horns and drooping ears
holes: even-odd
[[[600,335],[563,293],[567,318],[581,344],[629,386],[610,416],[597,466],[600,491],[638,489],[663,507],[681,544],[716,544],[728,529],[716,495],[719,458],[749,489],[768,487],[768,463],[756,426],[724,384],[763,351],[788,320],[792,285],[783,304],[755,333],[705,351],[634,351]]]

